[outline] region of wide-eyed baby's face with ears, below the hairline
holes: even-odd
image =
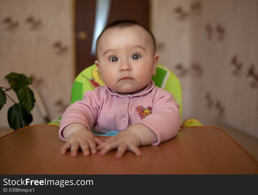
[[[99,39],[95,61],[104,83],[119,93],[135,93],[156,74],[159,55],[154,54],[152,37],[134,25],[106,30]]]

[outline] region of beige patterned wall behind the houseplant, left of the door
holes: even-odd
[[[50,120],[70,102],[75,76],[72,9],[71,0],[0,0],[0,86],[9,86],[4,77],[10,72],[32,76],[31,87],[38,90]],[[8,99],[2,108],[0,127],[8,127],[12,105]],[[31,124],[45,123],[37,104],[32,115]]]

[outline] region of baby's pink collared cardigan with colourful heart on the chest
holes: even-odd
[[[62,116],[59,136],[69,124],[81,123],[89,130],[105,133],[124,131],[128,126],[141,123],[158,138],[156,143],[176,136],[181,117],[179,104],[168,91],[155,86],[153,81],[133,95],[120,95],[106,86],[86,91],[83,100],[74,102]]]

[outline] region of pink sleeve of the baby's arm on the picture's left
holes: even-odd
[[[100,103],[100,89],[96,88],[94,91],[86,91],[83,99],[70,105],[62,115],[59,129],[60,138],[66,141],[62,131],[72,123],[81,123],[90,131],[97,121]]]

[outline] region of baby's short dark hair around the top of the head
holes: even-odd
[[[152,34],[152,32],[146,28],[144,25],[142,25],[141,23],[135,21],[135,20],[116,20],[114,22],[109,23],[108,25],[106,25],[106,27],[102,30],[102,32],[100,33],[99,37],[96,40],[96,45],[95,45],[95,52],[96,52],[96,56],[98,57],[97,54],[97,47],[98,47],[98,42],[99,42],[99,38],[101,37],[101,35],[109,28],[125,28],[128,26],[141,26],[142,28],[144,28],[152,37],[152,41],[153,41],[153,46],[154,46],[154,53],[156,53],[156,42],[155,42],[155,37]]]

